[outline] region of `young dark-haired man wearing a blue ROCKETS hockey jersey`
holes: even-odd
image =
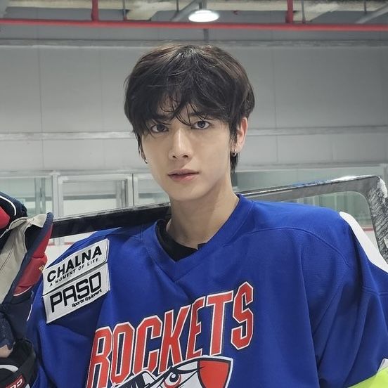
[[[388,265],[347,214],[233,193],[253,106],[220,48],[138,60],[125,112],[171,217],[95,233],[44,270],[32,387],[337,388],[377,373]]]

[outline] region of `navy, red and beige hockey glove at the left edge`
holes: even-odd
[[[0,192],[0,348],[25,337],[52,224],[53,214],[28,217],[18,200]]]

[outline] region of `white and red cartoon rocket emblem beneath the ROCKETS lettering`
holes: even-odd
[[[226,388],[231,376],[231,358],[200,357],[172,366],[153,377],[142,372],[117,385],[117,388]]]

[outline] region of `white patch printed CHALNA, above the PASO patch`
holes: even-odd
[[[93,270],[108,259],[108,239],[98,241],[43,271],[43,295]]]

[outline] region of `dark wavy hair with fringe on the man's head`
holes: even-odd
[[[231,54],[216,46],[168,44],[145,53],[125,81],[124,112],[134,128],[138,150],[158,111],[178,118],[191,108],[199,117],[228,124],[231,140],[254,108],[254,93],[247,73]],[[231,155],[231,172],[238,156]]]

